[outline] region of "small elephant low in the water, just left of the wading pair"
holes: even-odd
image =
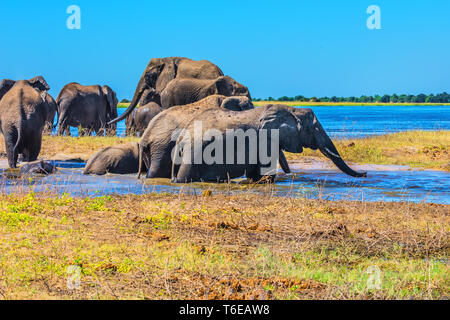
[[[141,166],[146,170],[145,166]],[[83,173],[104,175],[106,173],[130,174],[139,170],[139,146],[136,142],[107,147],[89,158]]]

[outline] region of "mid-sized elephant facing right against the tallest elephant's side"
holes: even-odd
[[[168,109],[173,106],[182,106],[214,94],[250,98],[248,88],[228,76],[216,79],[177,78],[170,81],[161,92],[161,107]]]

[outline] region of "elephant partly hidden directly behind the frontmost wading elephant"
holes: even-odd
[[[218,111],[222,108],[248,110],[253,109],[253,104],[247,97],[213,95],[189,105],[166,109],[154,117],[139,142],[139,157],[142,159],[140,163],[145,164],[149,169],[146,177],[170,178],[171,153],[181,133],[180,130],[200,117],[202,113],[208,110]]]

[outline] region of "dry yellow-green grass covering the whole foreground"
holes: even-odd
[[[436,204],[2,195],[0,297],[444,298],[449,222]]]

